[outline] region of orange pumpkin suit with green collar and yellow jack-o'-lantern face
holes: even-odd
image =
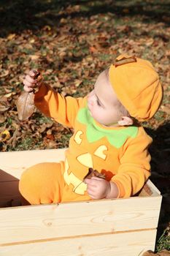
[[[109,72],[113,68],[111,66]],[[112,82],[110,73],[109,79]],[[117,86],[116,81],[114,85]],[[116,93],[119,90],[118,87],[114,89]],[[156,99],[158,103],[149,118],[160,105],[161,97]],[[90,200],[87,185],[82,182],[89,167],[105,173],[108,181],[117,184],[118,197],[130,197],[139,192],[150,176],[150,154],[147,149],[152,139],[143,127],[101,126],[90,116],[86,97],[63,97],[45,84],[36,93],[35,105],[46,116],[74,128],[74,135],[70,139],[65,162],[34,165],[21,176],[20,192],[29,203]],[[128,104],[125,106],[128,109]]]

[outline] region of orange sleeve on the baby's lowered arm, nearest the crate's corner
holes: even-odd
[[[150,154],[148,147],[152,138],[139,127],[136,138],[130,138],[123,146],[120,167],[112,181],[117,184],[119,197],[130,197],[142,189],[150,176]]]

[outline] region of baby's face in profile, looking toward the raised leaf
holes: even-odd
[[[120,120],[119,102],[106,72],[98,75],[93,91],[88,94],[90,115],[100,124],[117,126]]]

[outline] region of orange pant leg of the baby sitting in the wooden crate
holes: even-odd
[[[63,162],[29,167],[20,178],[19,190],[31,204],[59,203],[63,194]]]

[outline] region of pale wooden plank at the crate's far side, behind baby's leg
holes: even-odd
[[[20,179],[27,167],[39,162],[60,162],[64,159],[66,148],[32,151],[12,151],[0,153],[0,169]]]

